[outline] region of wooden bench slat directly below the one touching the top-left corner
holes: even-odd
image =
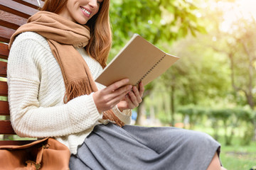
[[[12,29],[18,29],[19,26],[22,26],[26,23],[27,19],[16,16],[13,13],[8,13],[6,11],[0,10],[0,26],[5,26]]]

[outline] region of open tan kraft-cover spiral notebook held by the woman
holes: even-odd
[[[128,78],[129,84],[137,86],[142,81],[145,86],[166,72],[178,59],[179,57],[159,50],[140,35],[134,34],[95,81],[109,86]]]

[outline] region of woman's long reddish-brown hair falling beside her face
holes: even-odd
[[[41,11],[60,13],[68,0],[46,0]],[[110,0],[103,0],[100,9],[86,23],[90,28],[90,41],[85,47],[90,57],[99,62],[102,67],[106,67],[107,57],[112,43],[112,33],[110,28]]]

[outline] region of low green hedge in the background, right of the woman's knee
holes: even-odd
[[[193,129],[195,125],[200,125],[207,118],[210,127],[213,130],[213,137],[219,140],[220,135],[225,137],[225,145],[232,145],[235,135],[240,135],[241,145],[250,145],[254,135],[253,120],[255,120],[255,112],[247,108],[202,108],[199,106],[180,106],[177,113],[182,115],[182,122],[185,128]],[[188,125],[186,125],[188,118]],[[240,129],[240,133],[236,131]],[[224,130],[220,134],[220,130]]]

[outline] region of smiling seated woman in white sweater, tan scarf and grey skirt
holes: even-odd
[[[124,125],[142,102],[142,83],[95,84],[111,46],[109,7],[110,0],[46,0],[14,33],[8,84],[16,133],[55,137],[70,149],[70,169],[222,169],[220,145],[206,134]]]

